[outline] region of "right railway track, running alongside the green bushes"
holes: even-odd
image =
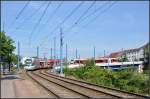
[[[47,75],[49,77],[56,77],[57,79],[67,81],[67,82],[70,82],[72,84],[79,84],[81,86],[86,86],[88,88],[100,90],[100,91],[103,91],[105,93],[113,94],[115,96],[122,97],[122,98],[149,98],[148,96],[144,96],[144,95],[140,95],[140,94],[136,94],[136,93],[122,91],[122,90],[109,88],[109,87],[105,87],[105,86],[100,86],[100,85],[96,85],[96,84],[91,84],[91,83],[88,83],[85,81],[80,81],[80,80],[71,79],[71,78],[67,78],[67,77],[61,77],[61,76],[58,76],[55,74],[48,73],[47,70],[41,70],[40,73]]]

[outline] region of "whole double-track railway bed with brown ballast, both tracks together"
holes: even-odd
[[[27,74],[56,98],[148,98],[60,77],[48,73],[47,70],[37,70]]]

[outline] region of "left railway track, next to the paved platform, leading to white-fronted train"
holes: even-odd
[[[42,76],[39,76],[37,72],[27,72],[27,75],[31,77],[35,82],[42,86],[48,93],[55,96],[55,98],[89,98],[88,96],[82,95],[75,91],[69,90],[61,85],[54,82],[50,82]]]

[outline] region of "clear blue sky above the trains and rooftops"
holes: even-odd
[[[27,6],[24,7],[25,5]],[[59,5],[61,6],[56,10]],[[64,19],[66,21],[61,24]],[[93,57],[94,46],[98,57],[103,56],[104,50],[108,55],[121,51],[122,48],[138,48],[149,42],[149,3],[2,1],[1,30],[15,41],[16,54],[17,42],[20,42],[21,56],[36,56],[36,48],[39,46],[39,56],[50,58],[50,49],[54,48],[56,37],[56,54],[59,57],[62,30],[63,57],[66,54],[66,44],[68,59],[75,58],[76,49],[80,58]]]

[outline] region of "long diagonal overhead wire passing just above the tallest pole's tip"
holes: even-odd
[[[71,13],[69,13],[69,14],[64,18],[64,20],[63,20],[59,25],[57,25],[57,26],[53,29],[53,31],[51,32],[51,35],[52,35],[52,34],[54,33],[54,31],[57,30],[62,24],[64,24],[83,4],[84,4],[84,1],[82,1],[80,4],[78,4],[78,5],[71,11]],[[49,34],[44,37],[44,39],[43,39],[44,41],[42,41],[42,42],[40,43],[40,46],[41,46],[46,40],[48,40],[48,37],[49,37]]]

